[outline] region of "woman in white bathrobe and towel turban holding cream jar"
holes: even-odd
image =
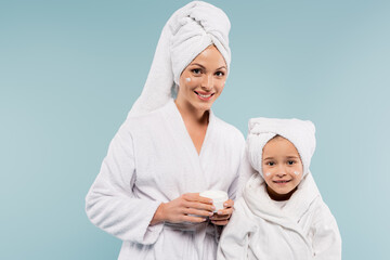
[[[216,258],[233,200],[213,213],[198,193],[235,197],[245,145],[210,110],[229,73],[229,30],[220,9],[198,1],[162,29],[144,90],[86,198],[91,222],[123,240],[118,259]]]

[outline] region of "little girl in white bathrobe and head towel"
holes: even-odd
[[[311,121],[250,119],[256,172],[222,232],[218,259],[341,259],[336,220],[309,170],[314,132]]]

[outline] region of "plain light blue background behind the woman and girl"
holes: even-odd
[[[116,259],[84,196],[187,1],[0,1],[0,259]],[[312,172],[343,259],[390,259],[390,2],[210,1],[231,18],[214,113],[317,128]]]

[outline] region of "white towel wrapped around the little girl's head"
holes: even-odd
[[[311,121],[299,119],[252,118],[249,120],[247,138],[248,157],[251,166],[261,174],[264,145],[275,135],[290,141],[297,148],[303,165],[303,176],[308,174],[311,157],[315,151],[315,127]]]

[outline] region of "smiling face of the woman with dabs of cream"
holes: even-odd
[[[222,54],[209,46],[184,68],[176,100],[180,106],[206,112],[222,93],[227,67]]]

